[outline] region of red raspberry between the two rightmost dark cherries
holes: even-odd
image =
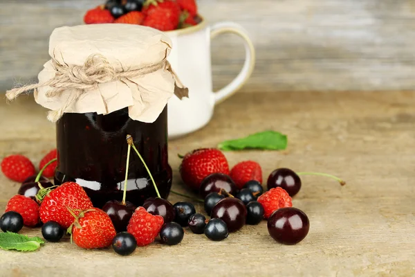
[[[257,200],[264,207],[264,217],[268,218],[279,208],[292,207],[291,197],[284,188],[271,188],[258,197]]]

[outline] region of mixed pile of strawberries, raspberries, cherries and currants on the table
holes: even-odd
[[[127,184],[131,147],[142,160],[131,136],[127,137],[127,142],[124,184]],[[145,165],[144,160],[142,163]],[[153,243],[158,236],[162,244],[180,244],[185,236],[183,228],[186,227],[192,233],[204,233],[210,240],[221,241],[245,224],[257,225],[266,219],[268,233],[274,240],[297,244],[306,237],[310,227],[307,215],[293,208],[291,199],[302,186],[299,175],[322,175],[344,185],[341,179],[325,173],[296,173],[288,168],[279,168],[270,173],[268,191],[264,192],[259,163],[242,161],[230,170],[228,160],[220,150],[194,150],[183,157],[179,170],[183,182],[193,191],[198,191],[200,198],[174,190],[172,193],[203,203],[205,215],[210,217],[208,219],[201,211],[197,213],[190,202],[173,205],[161,198],[148,169],[158,197],[146,199],[142,206],[136,207],[126,202],[127,186],[124,186],[121,202],[112,200],[99,209],[93,207],[91,199],[79,184],[66,182],[53,186],[47,177],[53,177],[56,166],[56,150],[42,159],[39,164],[42,169],[37,175],[33,175],[35,166],[27,157],[11,155],[3,159],[3,174],[14,181],[24,180],[19,193],[8,201],[6,211],[0,218],[0,229],[7,232],[3,235],[16,236],[12,233],[18,233],[23,226],[35,228],[43,224],[42,235],[48,242],[59,242],[66,231],[78,247],[102,249],[112,244],[116,253],[127,256],[136,247]],[[27,237],[20,239],[30,240]],[[40,238],[33,239],[39,247],[44,242]],[[3,248],[1,243],[0,248]]]

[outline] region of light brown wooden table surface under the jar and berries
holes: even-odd
[[[182,192],[177,153],[265,129],[287,134],[288,149],[226,152],[231,166],[252,159],[265,179],[279,167],[345,179],[340,187],[303,177],[293,205],[311,229],[295,246],[276,243],[266,222],[223,242],[186,231],[181,245],[156,242],[127,258],[112,249],[86,251],[66,238],[34,253],[0,251],[0,276],[414,276],[414,105],[415,92],[240,93],[216,109],[208,127],[170,143],[173,188]],[[54,147],[45,112],[31,96],[0,102],[0,158],[21,153],[38,162]],[[18,186],[0,175],[0,209]]]

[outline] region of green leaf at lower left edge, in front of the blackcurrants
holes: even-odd
[[[28,238],[18,233],[0,233],[0,248],[4,250],[35,251],[45,242],[39,238]]]

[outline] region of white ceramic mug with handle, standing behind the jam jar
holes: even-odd
[[[189,134],[208,124],[214,106],[232,96],[250,77],[255,66],[255,48],[246,30],[239,24],[223,22],[166,32],[172,39],[173,48],[169,62],[181,82],[189,88],[189,98],[172,97],[168,103],[169,139]],[[222,33],[234,33],[243,39],[246,60],[237,78],[223,89],[212,90],[210,40]]]

